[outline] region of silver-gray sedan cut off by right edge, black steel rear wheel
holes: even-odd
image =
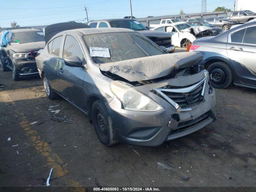
[[[197,39],[190,51],[204,55],[212,86],[231,83],[256,88],[256,21],[247,22],[215,37]]]

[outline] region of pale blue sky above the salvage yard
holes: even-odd
[[[4,1],[4,0],[1,0]],[[233,9],[234,0],[207,0],[207,12],[218,6]],[[0,4],[0,27],[48,25],[58,22],[87,22],[130,16],[130,0],[7,0]],[[201,12],[201,0],[132,0],[136,18]]]

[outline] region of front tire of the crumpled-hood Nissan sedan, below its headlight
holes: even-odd
[[[101,100],[96,100],[92,104],[92,124],[102,144],[111,146],[118,142],[111,117]]]

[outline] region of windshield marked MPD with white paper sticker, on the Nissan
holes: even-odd
[[[90,56],[96,63],[109,63],[167,53],[150,39],[136,32],[91,34],[84,35],[83,38]],[[102,54],[102,52],[105,53]],[[98,56],[98,54],[102,55]]]

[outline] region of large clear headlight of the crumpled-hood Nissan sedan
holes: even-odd
[[[138,92],[130,84],[113,81],[110,83],[110,90],[127,110],[154,112],[162,109],[160,105]]]

